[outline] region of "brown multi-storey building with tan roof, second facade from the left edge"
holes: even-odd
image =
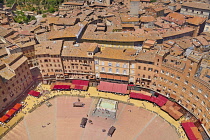
[[[43,41],[35,46],[35,55],[44,83],[65,80],[61,61],[63,41]]]

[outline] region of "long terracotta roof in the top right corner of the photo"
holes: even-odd
[[[210,10],[210,4],[208,3],[186,2],[186,3],[183,3],[182,6]]]

